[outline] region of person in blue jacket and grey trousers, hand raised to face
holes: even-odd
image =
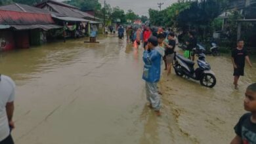
[[[158,38],[150,37],[148,39],[148,46],[146,46],[143,53],[144,73],[143,79],[146,81],[146,98],[150,102],[150,108],[156,111],[158,116],[161,115],[161,99],[158,95],[157,84],[161,77],[161,60],[163,52],[158,47]]]

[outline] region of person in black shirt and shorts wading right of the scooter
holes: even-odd
[[[238,89],[238,79],[240,76],[244,76],[244,66],[245,60],[249,63],[249,66],[252,67],[251,61],[247,54],[247,50],[244,48],[244,41],[239,40],[237,43],[237,48],[232,50],[232,63],[234,66],[234,86]]]

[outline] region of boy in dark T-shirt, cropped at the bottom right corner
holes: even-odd
[[[256,143],[256,83],[247,87],[244,109],[249,113],[243,115],[234,127],[236,137],[231,141],[231,144]]]

